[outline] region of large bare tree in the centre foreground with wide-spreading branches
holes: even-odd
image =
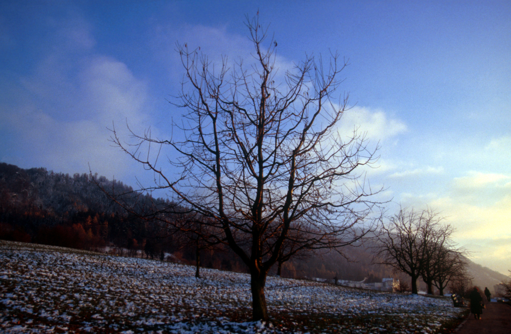
[[[147,131],[132,133],[137,141],[130,146],[115,129],[112,139],[154,173],[155,183],[142,190],[170,190],[174,201],[206,219],[208,229],[196,231],[201,240],[240,257],[251,277],[252,317],[267,320],[264,287],[279,259],[304,250],[340,252],[374,231],[379,190],[368,187],[360,170],[376,161],[377,148],[369,149],[356,131],[338,133],[347,95],[332,98],[346,62],[339,64],[337,54],[329,63],[307,57],[279,83],[276,42],[258,16],[247,17],[246,25],[255,59],[248,67],[240,60],[230,69],[223,57],[215,68],[200,48],[176,44],[184,79],[172,103],[185,112],[174,132],[184,139]],[[156,147],[156,158],[145,145]],[[167,171],[158,160],[166,145],[177,156]],[[153,218],[164,221],[165,214]],[[285,247],[291,228],[305,232],[296,234],[293,248]]]

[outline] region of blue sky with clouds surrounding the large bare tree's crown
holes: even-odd
[[[511,4],[507,1],[2,1],[0,161],[135,184],[110,146],[170,133],[183,74],[175,42],[250,57],[259,10],[283,67],[306,54],[350,59],[341,127],[380,142],[368,172],[399,204],[442,212],[483,266],[511,269]],[[142,176],[144,178],[144,176]]]

